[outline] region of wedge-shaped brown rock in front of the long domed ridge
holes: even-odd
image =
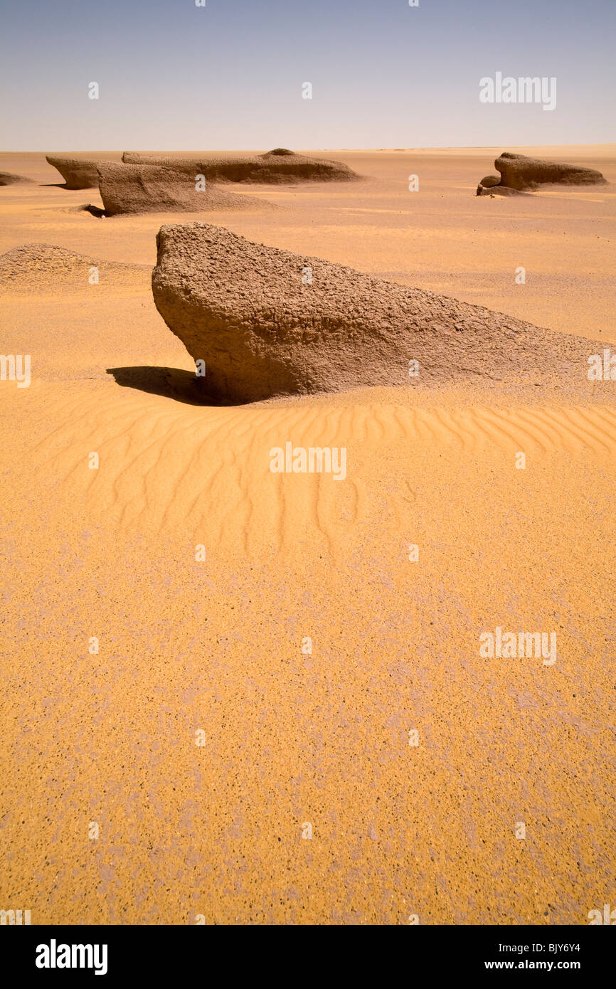
[[[247,210],[264,201],[219,189],[205,182],[198,190],[196,174],[157,165],[99,164],[99,191],[105,213],[205,213],[212,210]]]

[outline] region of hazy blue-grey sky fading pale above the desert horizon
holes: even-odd
[[[616,0],[0,0],[0,35],[5,151],[616,139]]]

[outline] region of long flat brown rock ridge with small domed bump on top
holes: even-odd
[[[174,158],[125,151],[122,160],[128,164],[163,165],[218,182],[349,182],[360,177],[341,161],[307,158],[286,147],[244,158]]]

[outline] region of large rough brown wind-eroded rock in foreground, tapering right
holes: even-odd
[[[214,398],[482,379],[583,385],[596,346],[218,226],[165,225],[157,246],[154,302],[206,362]]]

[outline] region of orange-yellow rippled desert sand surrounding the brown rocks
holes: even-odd
[[[33,366],[0,382],[6,909],[515,925],[613,904],[616,382],[199,405],[149,287],[158,227],[205,219],[613,341],[616,187],[477,198],[501,150],[322,152],[368,178],[106,220],[43,155],[0,155],[44,183],[0,189],[0,252],[86,259],[0,286],[0,349]],[[616,182],[613,145],[519,150]],[[346,480],[271,474],[288,440],[346,447]],[[556,663],[482,658],[496,626],[555,631]]]

